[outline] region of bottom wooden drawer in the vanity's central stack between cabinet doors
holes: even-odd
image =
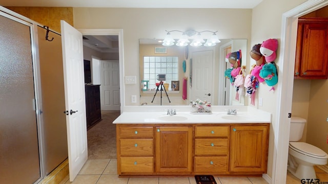
[[[195,172],[228,172],[228,156],[195,156]]]

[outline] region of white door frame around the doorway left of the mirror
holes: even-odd
[[[120,111],[125,106],[124,89],[124,53],[123,53],[123,29],[77,29],[82,35],[117,35],[118,36],[118,62],[119,62],[119,95]]]

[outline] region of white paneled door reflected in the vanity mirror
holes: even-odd
[[[192,53],[193,81],[191,100],[207,100],[213,102],[213,51],[199,51]]]

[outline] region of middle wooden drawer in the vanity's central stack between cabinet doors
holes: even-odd
[[[195,139],[196,155],[227,155],[228,139]]]

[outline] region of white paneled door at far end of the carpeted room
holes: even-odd
[[[101,110],[120,110],[119,62],[100,61],[100,108]]]

